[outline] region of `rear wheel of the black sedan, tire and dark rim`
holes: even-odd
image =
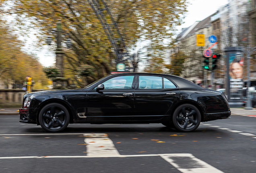
[[[201,122],[200,111],[190,104],[180,105],[173,113],[173,125],[178,131],[192,132]]]

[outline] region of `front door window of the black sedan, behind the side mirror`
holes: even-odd
[[[104,90],[106,89],[132,89],[132,81],[134,76],[117,76],[105,82]]]

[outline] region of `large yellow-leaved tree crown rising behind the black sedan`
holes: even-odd
[[[60,20],[63,31],[73,42],[72,49],[64,49],[66,75],[73,75],[74,78],[78,74],[78,67],[88,64],[95,68],[90,79],[96,80],[115,70],[115,54],[89,1],[0,0],[0,12],[16,14],[19,26],[30,22],[31,27],[39,28],[41,43],[46,35],[54,38],[49,31],[56,28]],[[128,47],[144,37],[151,40],[151,46],[159,54],[164,49],[163,40],[172,41],[175,26],[182,23],[187,6],[186,0],[105,1]]]

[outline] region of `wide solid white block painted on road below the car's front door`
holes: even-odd
[[[85,143],[88,145],[87,156],[120,156],[114,143],[109,139],[107,134],[104,133],[88,133],[84,134]]]

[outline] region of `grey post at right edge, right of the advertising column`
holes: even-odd
[[[246,98],[247,98],[247,103],[245,109],[251,110],[252,109],[252,103],[251,103],[251,96],[249,92],[249,87],[251,87],[251,81],[250,81],[250,59],[251,59],[251,54],[256,50],[256,46],[253,48],[250,48],[248,46],[247,48],[243,48],[243,52],[246,54],[247,58],[247,87],[248,91],[246,92]]]

